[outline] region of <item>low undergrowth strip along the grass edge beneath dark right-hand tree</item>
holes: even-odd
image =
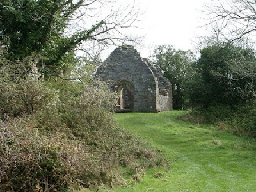
[[[195,123],[216,124],[221,131],[256,138],[255,102],[236,106],[236,108],[218,105],[210,106],[207,109],[193,109],[182,118]]]

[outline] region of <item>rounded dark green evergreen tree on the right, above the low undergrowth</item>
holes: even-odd
[[[196,76],[188,90],[193,106],[236,106],[253,98],[256,87],[254,79],[243,77],[230,68],[230,61],[240,66],[243,60],[254,63],[256,58],[252,49],[226,43],[205,47],[200,53],[200,59],[194,65]]]

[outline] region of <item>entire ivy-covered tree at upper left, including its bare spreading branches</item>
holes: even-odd
[[[110,4],[108,12],[104,10],[106,4]],[[114,5],[110,0],[1,1],[0,42],[7,42],[6,57],[20,60],[40,55],[43,60],[38,65],[46,70],[74,61],[74,51],[83,42],[115,44],[129,40],[122,28],[132,26],[138,12],[134,6],[122,9]]]

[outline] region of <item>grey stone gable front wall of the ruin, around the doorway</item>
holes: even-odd
[[[156,98],[156,77],[152,70],[132,46],[116,48],[97,70],[96,75],[108,81],[111,89],[122,82],[134,86],[134,108],[132,111],[155,112],[159,107]],[[157,102],[156,102],[157,100]]]

